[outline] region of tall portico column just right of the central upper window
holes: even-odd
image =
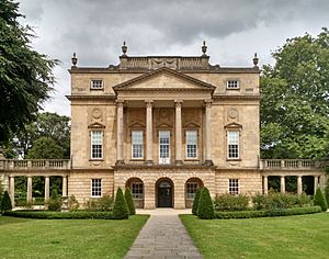
[[[175,165],[182,165],[182,100],[175,100]]]

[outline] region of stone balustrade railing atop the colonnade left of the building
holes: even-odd
[[[68,159],[1,160],[0,168],[4,170],[70,169],[70,160]]]

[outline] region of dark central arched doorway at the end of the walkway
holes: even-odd
[[[173,207],[173,182],[161,178],[156,183],[157,207]]]

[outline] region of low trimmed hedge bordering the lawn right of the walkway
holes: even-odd
[[[215,212],[215,218],[252,218],[271,216],[292,216],[321,212],[320,206],[293,207],[286,210],[266,210],[266,211],[237,211],[237,212]]]

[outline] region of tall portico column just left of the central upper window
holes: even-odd
[[[154,145],[154,132],[152,132],[152,103],[148,100],[146,103],[146,165],[154,165],[152,159],[152,145]]]

